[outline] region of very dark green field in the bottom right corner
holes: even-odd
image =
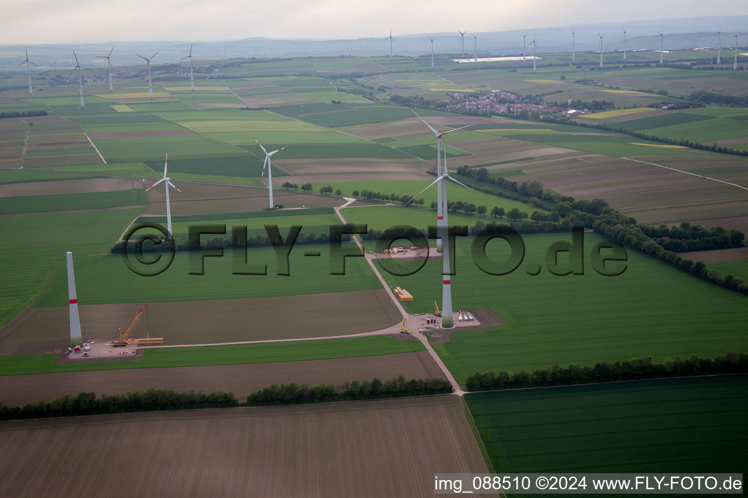
[[[709,473],[748,463],[747,382],[614,382],[465,400],[497,472]]]

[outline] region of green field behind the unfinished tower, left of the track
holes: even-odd
[[[228,234],[223,237],[230,239],[231,226],[234,224],[232,220],[227,226]],[[285,232],[281,228],[283,236]],[[203,235],[201,238],[209,240],[213,237],[216,236]],[[222,258],[205,258],[204,275],[191,275],[188,252],[180,251],[174,256],[168,270],[151,277],[132,273],[120,255],[97,255],[85,261],[76,261],[78,299],[82,304],[90,305],[295,296],[381,288],[381,283],[371,267],[363,261],[364,258],[346,258],[346,275],[330,275],[329,247],[329,244],[294,246],[289,255],[289,276],[277,275],[275,251],[267,247],[249,248],[248,266],[239,267],[239,271],[257,272],[267,265],[267,275],[234,275],[233,252],[230,250],[225,251]],[[305,257],[306,252],[319,252],[320,255]],[[34,306],[59,306],[65,302],[66,296],[67,276],[63,268],[52,274],[49,290],[40,296]]]

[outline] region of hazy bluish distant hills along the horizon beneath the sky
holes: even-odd
[[[717,31],[723,27],[722,46],[730,47],[734,43],[731,37],[736,25],[748,25],[748,16],[712,16],[690,17],[682,19],[654,19],[625,23],[607,23],[599,25],[574,25],[560,28],[527,28],[515,31],[499,31],[478,34],[478,52],[481,55],[509,55],[522,53],[522,35],[527,36],[527,49],[530,41],[536,37],[538,52],[570,52],[571,29],[576,31],[577,51],[595,50],[598,48],[598,31],[605,35],[604,49],[623,48],[623,28],[627,31],[628,49],[659,49],[660,37],[657,31],[665,30],[663,46],[665,49],[693,49],[699,47],[717,47]],[[457,26],[456,28],[468,28]],[[732,31],[730,31],[732,29]],[[382,33],[381,38],[359,38],[356,40],[272,40],[255,37],[242,40],[221,42],[194,43],[193,56],[201,60],[227,59],[230,57],[331,57],[340,55],[357,55],[364,57],[389,55],[390,45],[384,40],[389,33]],[[430,52],[429,34],[393,33],[393,52],[396,55],[418,56]],[[738,45],[748,47],[748,34],[741,31]],[[434,51],[438,54],[459,55],[461,52],[460,35],[454,33],[437,33]],[[35,63],[44,67],[72,67],[73,49],[83,65],[91,67],[105,66],[105,60],[96,55],[106,55],[114,46],[112,63],[116,66],[138,65],[143,61],[136,53],[150,56],[153,52],[159,55],[153,63],[174,63],[189,52],[188,41],[151,41],[151,42],[108,42],[86,43],[79,45],[50,44],[28,46],[28,56]],[[472,55],[473,37],[465,34],[465,54]],[[23,60],[23,46],[0,45],[0,71],[15,70]]]

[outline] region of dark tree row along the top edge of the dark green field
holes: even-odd
[[[748,355],[744,352],[728,351],[717,358],[700,358],[693,355],[687,360],[680,356],[666,358],[662,363],[652,363],[652,356],[634,358],[630,361],[603,361],[594,367],[571,364],[559,367],[555,364],[545,370],[532,373],[486,372],[473,373],[465,381],[467,390],[515,389],[520,387],[545,387],[550,385],[589,384],[594,382],[616,382],[635,379],[658,379],[662,377],[723,375],[748,373]]]

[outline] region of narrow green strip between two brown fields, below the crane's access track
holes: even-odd
[[[358,358],[426,350],[420,340],[397,340],[387,335],[346,337],[343,339],[289,341],[283,343],[237,344],[185,348],[145,349],[139,361],[114,361],[58,365],[59,355],[0,356],[0,375],[28,373],[81,372],[120,368],[198,367],[270,363],[274,361]]]

